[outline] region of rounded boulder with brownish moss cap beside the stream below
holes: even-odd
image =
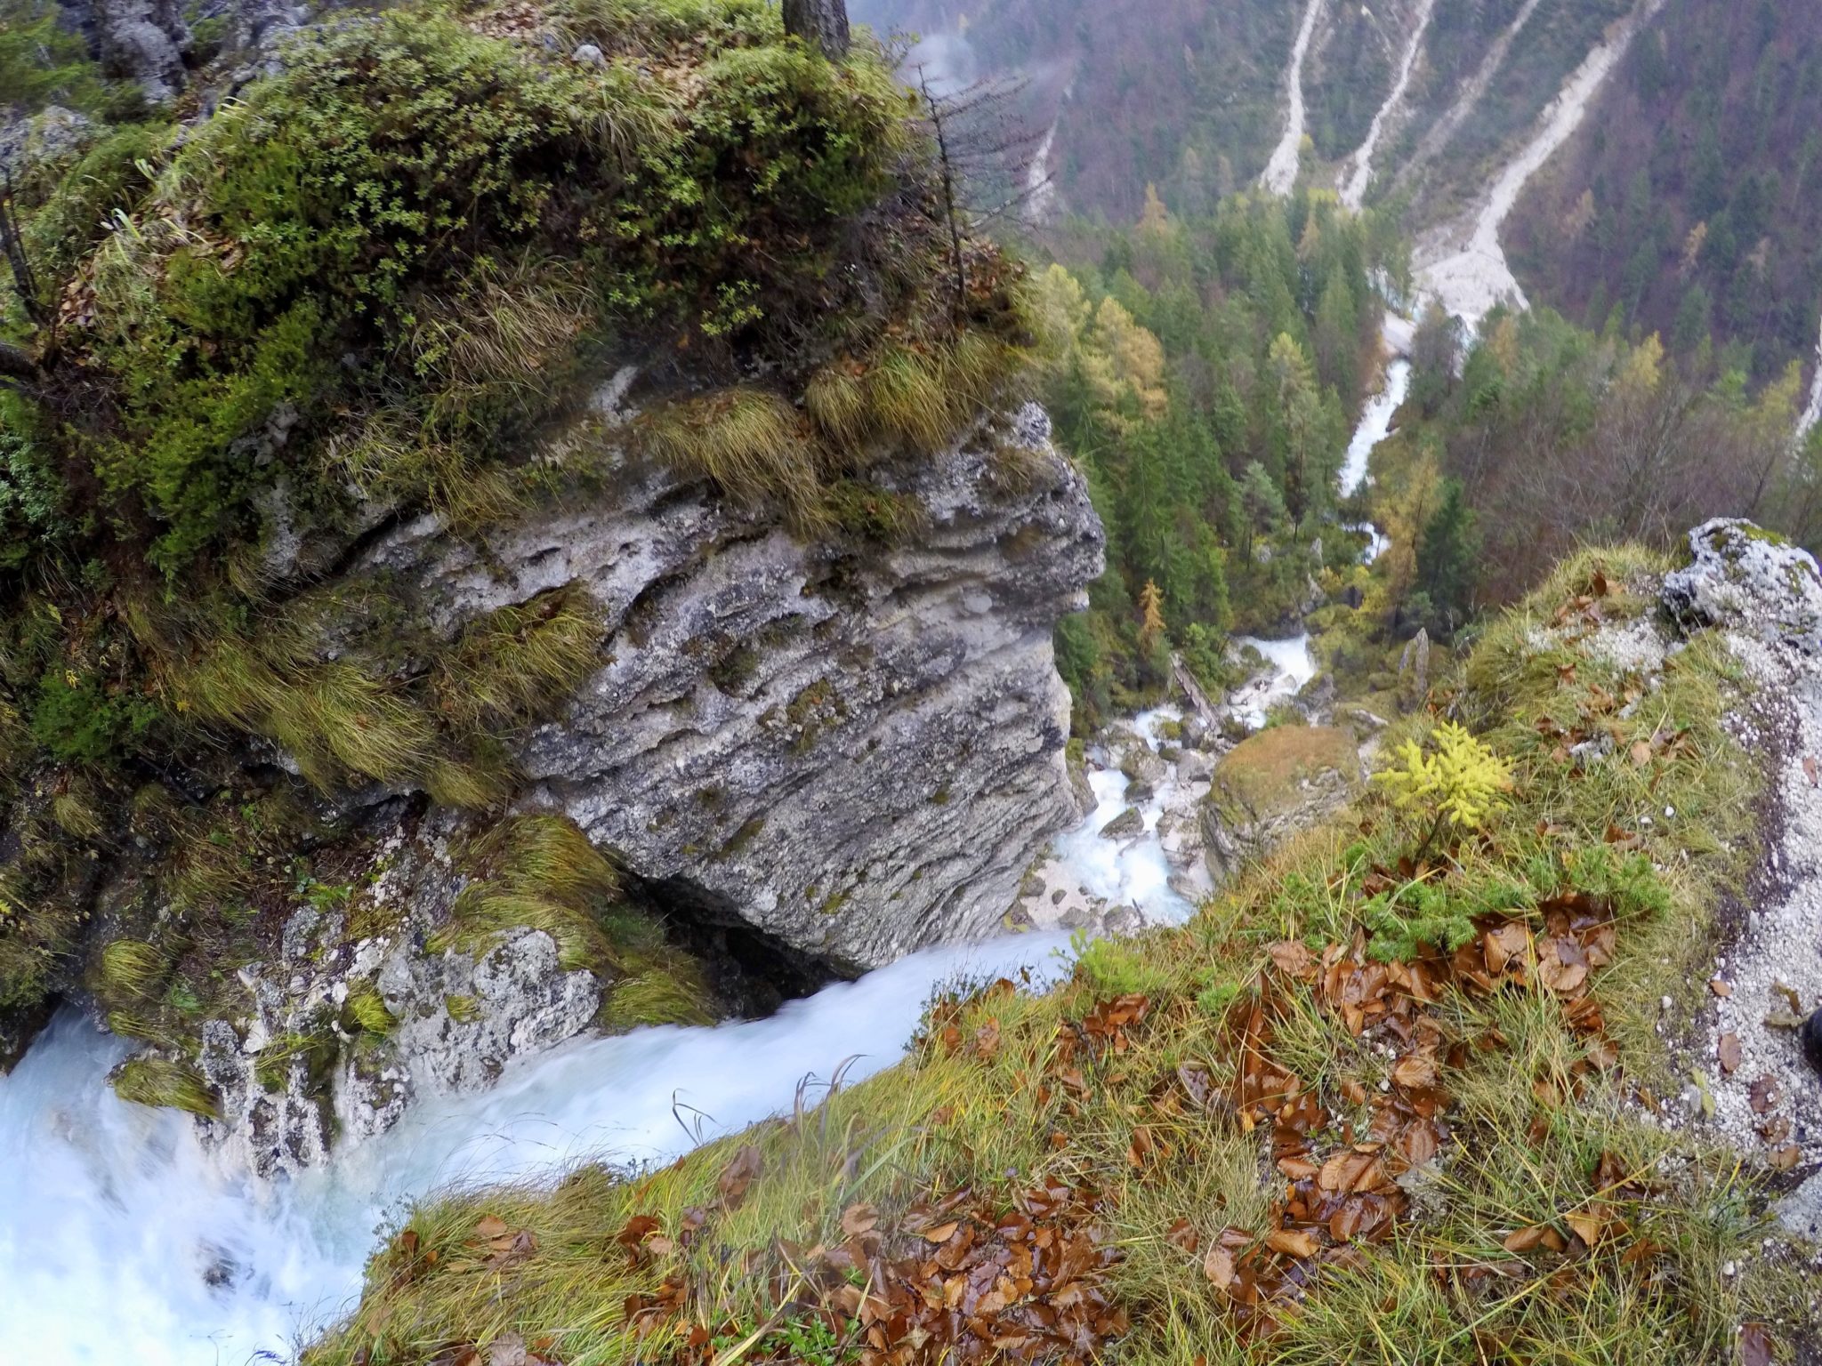
[[[1279,725],[1235,745],[1203,800],[1203,843],[1215,882],[1314,825],[1361,789],[1348,730]]]

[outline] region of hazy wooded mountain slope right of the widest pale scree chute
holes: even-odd
[[[1822,310],[1822,9],[1671,0],[1507,226],[1534,297],[1767,377]]]

